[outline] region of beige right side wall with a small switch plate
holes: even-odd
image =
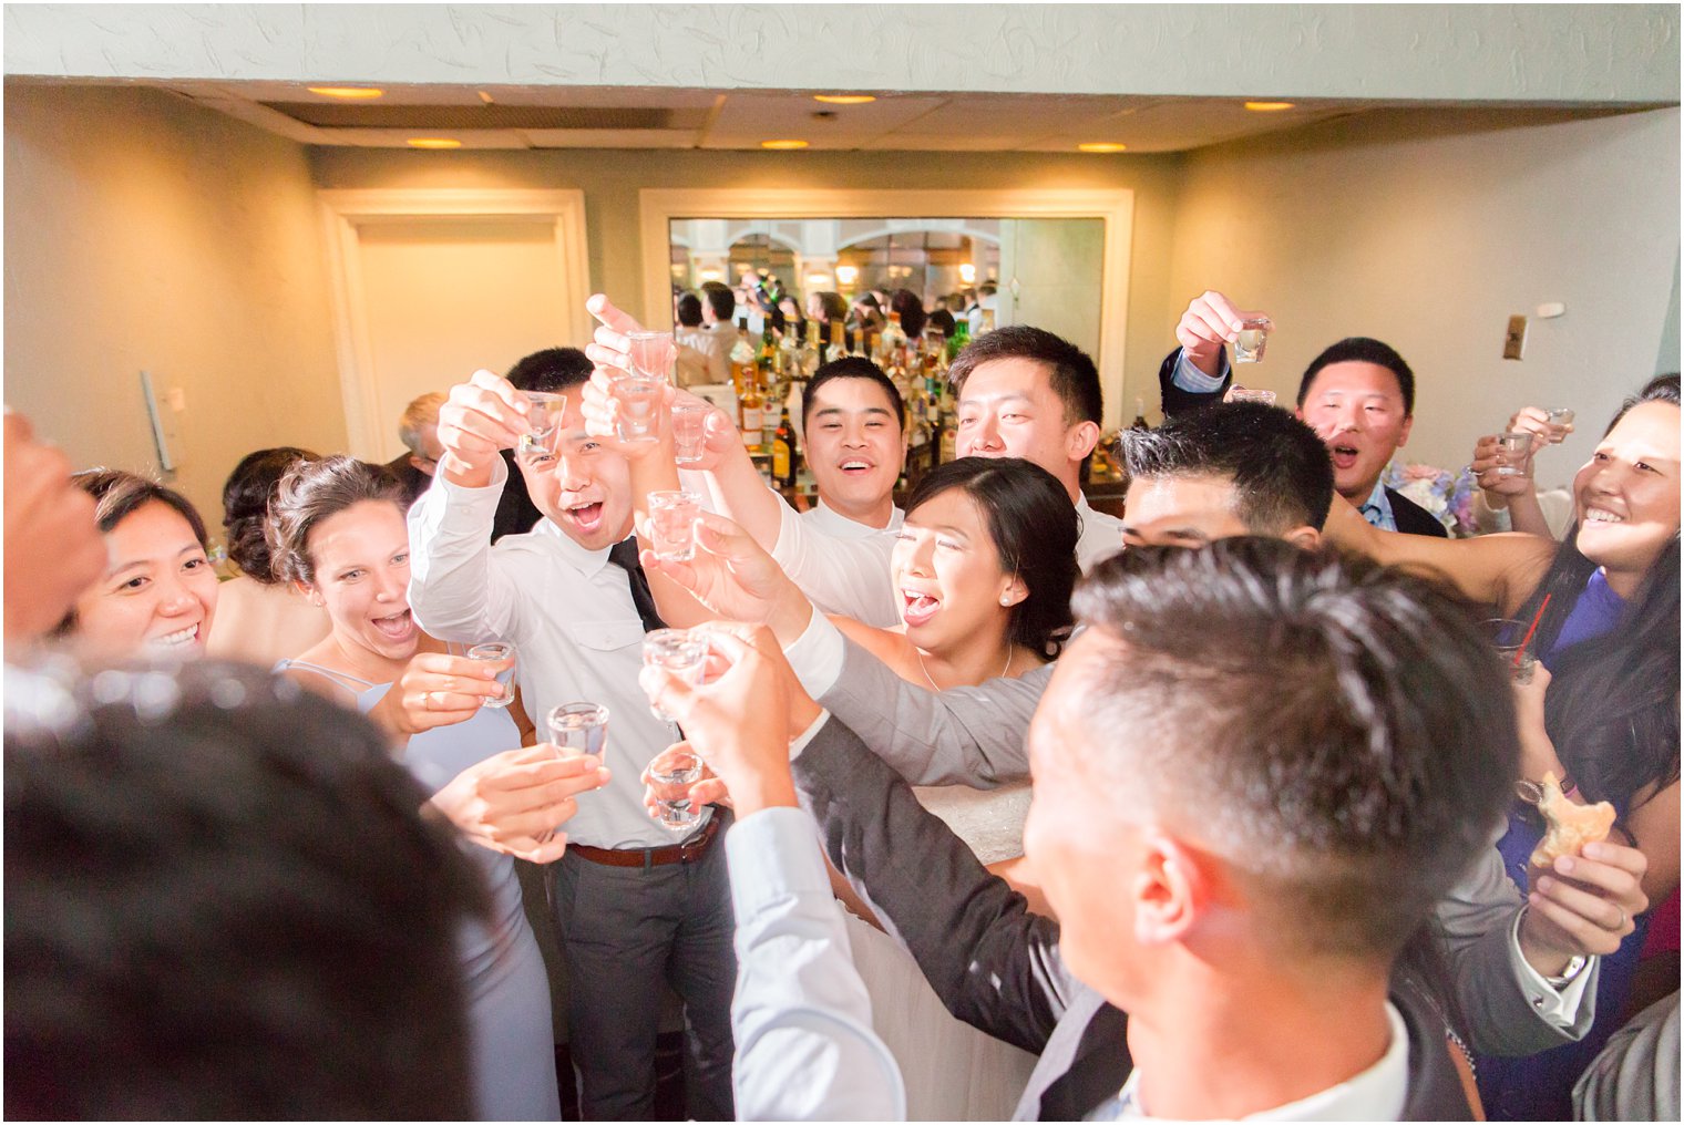
[[[1340,337],[1394,345],[1418,377],[1408,460],[1462,467],[1517,408],[1573,406],[1580,431],[1537,463],[1564,483],[1664,350],[1679,111],[1495,120],[1428,133],[1366,116],[1189,153],[1169,303],[1216,288],[1268,310],[1268,360],[1244,376],[1282,394]],[[1526,359],[1502,360],[1509,315],[1546,301],[1566,315],[1532,318]],[[1137,367],[1148,333],[1133,328]]]

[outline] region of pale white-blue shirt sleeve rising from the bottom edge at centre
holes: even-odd
[[[763,808],[738,820],[726,866],[738,920],[738,1120],[906,1120],[901,1071],[871,1027],[812,817]]]

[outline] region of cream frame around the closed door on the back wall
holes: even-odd
[[[333,301],[333,345],[345,406],[345,440],[354,456],[384,460],[396,418],[381,418],[362,281],[360,227],[397,222],[530,221],[551,227],[562,291],[561,339],[589,335],[584,298],[591,293],[584,232],[584,192],[532,189],[322,189],[317,192],[325,231]],[[468,372],[463,372],[466,377]]]

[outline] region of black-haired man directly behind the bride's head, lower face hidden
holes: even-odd
[[[1122,547],[1122,524],[1081,493],[1081,467],[1100,441],[1100,371],[1079,347],[1010,325],[973,339],[950,371],[958,396],[958,456],[1021,456],[1058,477],[1076,505],[1076,559],[1091,568]]]

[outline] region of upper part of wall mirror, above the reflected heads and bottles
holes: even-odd
[[[852,305],[911,290],[926,312],[992,305],[995,325],[1031,323],[1100,354],[1105,219],[685,217],[667,232],[674,300],[722,281],[743,307],[743,278],[761,271],[802,310],[812,293]]]

